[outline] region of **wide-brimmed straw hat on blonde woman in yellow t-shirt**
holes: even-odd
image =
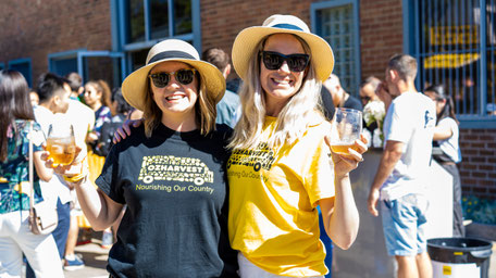
[[[310,47],[310,62],[313,63],[317,77],[323,81],[333,72],[334,54],[331,46],[323,38],[310,33],[307,24],[294,15],[274,14],[262,26],[243,29],[234,40],[233,65],[236,73],[245,79],[250,58],[256,55],[256,47],[264,37],[277,34],[293,34],[303,39]]]

